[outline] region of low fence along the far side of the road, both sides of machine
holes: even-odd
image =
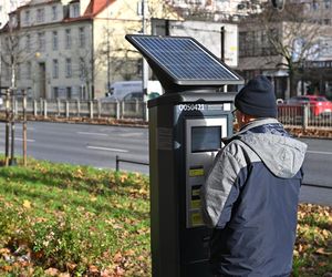
[[[12,103],[10,103],[12,105]],[[2,105],[0,111],[4,111]],[[23,101],[15,99],[15,114],[23,113]],[[34,116],[59,117],[111,117],[145,119],[146,103],[143,101],[80,101],[80,100],[30,100],[27,102],[27,114]],[[322,112],[313,105],[278,104],[278,120],[288,127],[332,130],[332,111]]]

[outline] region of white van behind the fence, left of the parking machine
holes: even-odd
[[[129,93],[142,92],[142,81],[120,81],[111,85],[111,92],[106,93],[106,99],[122,101]],[[159,81],[147,82],[147,96],[149,94],[163,94],[163,88]]]

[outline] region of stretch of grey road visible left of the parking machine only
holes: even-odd
[[[4,125],[0,125],[4,150]],[[22,155],[22,125],[17,124],[15,148]],[[38,160],[115,168],[115,156],[148,162],[147,129],[29,122],[28,155]],[[148,173],[148,166],[121,164],[121,170]]]

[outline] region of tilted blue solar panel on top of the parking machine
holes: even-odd
[[[218,58],[211,54],[193,38],[128,35],[128,40],[152,59],[176,83],[217,84],[241,82]]]

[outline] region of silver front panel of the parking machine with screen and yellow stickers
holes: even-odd
[[[227,136],[227,117],[186,121],[186,227],[203,226],[200,187]]]

